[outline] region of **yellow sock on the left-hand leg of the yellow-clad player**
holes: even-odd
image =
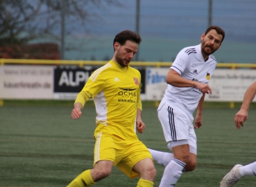
[[[71,181],[71,183],[67,187],[85,187],[92,186],[95,182],[92,179],[91,170],[86,170],[82,172],[76,179]]]

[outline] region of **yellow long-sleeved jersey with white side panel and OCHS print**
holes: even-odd
[[[81,92],[88,91],[94,100],[97,125],[94,136],[106,132],[122,139],[137,138],[137,109],[142,110],[140,88],[139,71],[112,60],[92,73]]]

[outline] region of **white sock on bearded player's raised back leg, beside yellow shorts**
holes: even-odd
[[[151,152],[151,155],[154,159],[154,161],[156,161],[157,163],[159,163],[160,165],[166,167],[169,162],[171,161],[171,159],[173,159],[173,154],[170,152],[162,152],[162,151],[157,151],[157,150],[151,150],[149,149],[149,152]]]

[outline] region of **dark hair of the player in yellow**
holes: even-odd
[[[140,37],[139,34],[131,30],[123,30],[121,31],[121,33],[118,33],[114,37],[113,46],[115,42],[118,42],[121,46],[123,46],[127,40],[135,42],[136,44],[140,44],[142,42],[142,38]]]

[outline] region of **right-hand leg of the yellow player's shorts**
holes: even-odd
[[[153,163],[151,153],[146,145],[137,139],[136,141],[127,141],[127,147],[123,159],[117,164],[119,170],[125,173],[131,179],[139,177],[139,173],[133,170],[133,167],[143,159],[149,159]]]

